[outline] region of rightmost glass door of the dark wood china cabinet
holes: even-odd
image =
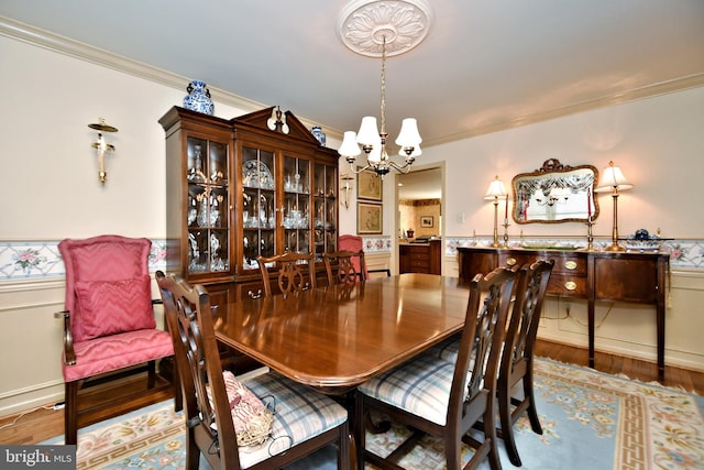
[[[315,243],[316,261],[322,261],[322,253],[337,249],[337,168],[316,164],[315,170]]]

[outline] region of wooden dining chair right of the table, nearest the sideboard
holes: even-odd
[[[542,300],[553,265],[553,260],[539,260],[521,269],[498,369],[498,436],[504,440],[506,453],[516,467],[521,466],[514,438],[513,426],[516,420],[527,412],[534,433],[542,434],[532,390],[534,350]],[[522,385],[521,397],[512,394],[518,382]]]

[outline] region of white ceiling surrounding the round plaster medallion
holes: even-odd
[[[1,0],[0,15],[278,105],[334,135],[380,114],[381,61],[336,32],[346,3]],[[704,85],[702,0],[430,3],[426,40],[387,59],[392,139],[404,117],[428,146]]]

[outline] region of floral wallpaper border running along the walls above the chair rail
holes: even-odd
[[[363,237],[366,253],[391,253],[391,236]],[[482,237],[449,237],[444,240],[444,254],[454,256],[458,247],[488,247],[493,239]],[[513,240],[512,247],[530,245],[580,245],[583,241],[559,238],[531,238]],[[595,241],[596,249],[610,244],[609,240]],[[58,252],[58,241],[0,241],[0,282],[41,277],[63,277],[64,262]],[[704,270],[704,240],[668,240],[661,245],[670,253],[673,269]],[[166,240],[152,240],[150,270],[166,269]]]

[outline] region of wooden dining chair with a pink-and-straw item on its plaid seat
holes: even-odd
[[[337,446],[338,468],[350,468],[348,412],[341,405],[273,371],[242,382],[223,371],[207,291],[162,271],[156,281],[186,403],[188,470],[199,468],[201,455],[213,469],[280,469],[330,445]],[[256,419],[271,430],[243,419],[262,416],[252,411],[255,405],[271,412],[273,419]]]

